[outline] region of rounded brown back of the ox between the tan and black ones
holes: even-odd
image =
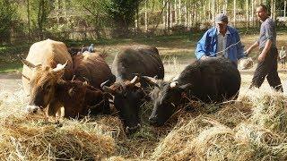
[[[106,80],[109,80],[109,84],[116,80],[103,55],[99,53],[85,52],[82,55],[74,55],[73,64],[74,80],[87,80],[95,88],[100,88],[100,84]]]

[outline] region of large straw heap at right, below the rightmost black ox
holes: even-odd
[[[286,101],[254,89],[216,113],[187,114],[150,160],[286,160]]]

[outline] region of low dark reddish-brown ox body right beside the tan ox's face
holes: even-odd
[[[109,94],[82,81],[58,80],[55,97],[64,106],[66,118],[87,114],[109,114]],[[56,114],[57,108],[49,108],[48,114]]]

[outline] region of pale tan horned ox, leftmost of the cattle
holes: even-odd
[[[22,71],[24,91],[30,96],[27,109],[58,108],[58,100],[54,97],[57,80],[62,76],[65,80],[72,77],[72,57],[62,42],[47,39],[30,47],[29,54]],[[57,65],[59,64],[59,65]],[[63,65],[65,64],[65,68]]]

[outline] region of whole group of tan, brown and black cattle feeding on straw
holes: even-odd
[[[224,57],[196,61],[177,80],[163,80],[159,51],[149,46],[121,49],[111,69],[99,53],[71,56],[64,43],[51,39],[33,44],[21,60],[29,114],[81,118],[110,114],[114,106],[126,133],[141,127],[145,102],[153,104],[149,122],[161,126],[190,100],[221,103],[236,99],[240,88],[238,69]]]

